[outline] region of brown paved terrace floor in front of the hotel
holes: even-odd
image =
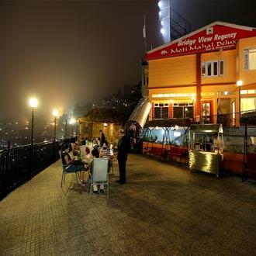
[[[60,161],[42,171],[0,202],[0,255],[256,254],[256,182],[135,154],[127,169],[109,202],[73,175],[61,189]]]

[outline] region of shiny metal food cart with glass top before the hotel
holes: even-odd
[[[220,175],[223,160],[223,128],[217,124],[193,124],[189,131],[189,168]]]

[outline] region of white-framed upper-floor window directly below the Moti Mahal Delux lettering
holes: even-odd
[[[224,74],[224,61],[207,61],[202,62],[202,77],[216,77]]]

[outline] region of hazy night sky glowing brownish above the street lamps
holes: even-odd
[[[172,0],[171,8],[199,29],[216,20],[256,27],[256,1]],[[29,119],[55,107],[84,105],[136,85],[147,45],[163,43],[155,0],[0,2],[0,119]]]

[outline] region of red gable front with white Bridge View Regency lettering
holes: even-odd
[[[236,46],[237,40],[251,36],[256,36],[256,28],[217,21],[161,47],[149,50],[146,57],[149,61],[163,57],[232,48]]]

